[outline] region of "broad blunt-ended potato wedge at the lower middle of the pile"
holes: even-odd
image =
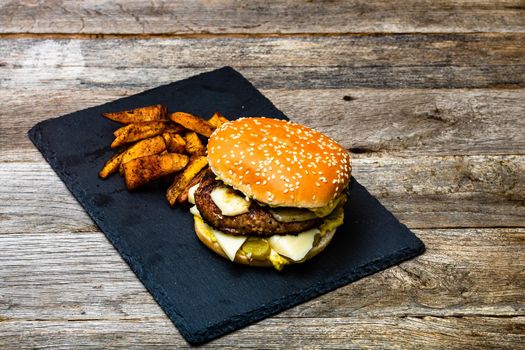
[[[128,190],[134,190],[153,180],[173,174],[188,164],[188,156],[178,153],[152,155],[124,164],[124,180]]]

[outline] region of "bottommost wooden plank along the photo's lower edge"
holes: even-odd
[[[525,317],[271,318],[202,349],[509,349],[519,348]],[[4,349],[189,349],[167,319],[7,321]]]

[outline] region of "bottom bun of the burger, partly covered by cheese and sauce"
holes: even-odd
[[[294,260],[286,258],[285,256],[283,256],[283,258],[289,261],[288,265],[299,264],[299,263],[305,262],[306,260],[313,258],[317,254],[321,253],[328,246],[328,244],[330,244],[330,242],[332,241],[332,238],[334,237],[335,231],[336,231],[335,229],[332,231],[328,231],[323,237],[321,237],[319,242],[317,242],[317,244],[313,246],[312,249],[310,249],[310,251],[308,252],[308,254],[306,254],[304,259],[300,261],[294,261]],[[205,246],[207,246],[208,248],[210,248],[211,250],[213,250],[215,253],[219,254],[223,258],[230,260],[228,256],[224,253],[224,251],[222,250],[219,243],[214,242],[211,239],[211,237],[207,235],[206,232],[204,232],[203,225],[199,225],[197,221],[195,221],[195,233],[197,234],[197,237],[199,237],[199,240],[202,243],[204,243]],[[243,265],[273,267],[273,264],[269,259],[266,259],[266,260],[250,259],[240,249],[235,255],[234,261],[236,263],[243,264]]]

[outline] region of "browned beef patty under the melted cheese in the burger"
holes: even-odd
[[[297,234],[319,226],[322,219],[297,222],[277,221],[266,207],[252,201],[249,211],[236,216],[224,216],[211,199],[211,191],[223,183],[208,171],[195,191],[195,205],[205,222],[213,228],[231,235],[272,236]]]

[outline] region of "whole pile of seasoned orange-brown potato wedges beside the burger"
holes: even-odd
[[[129,191],[163,177],[174,175],[166,192],[171,206],[188,201],[188,190],[208,167],[206,146],[201,137],[228,122],[215,112],[204,120],[186,112],[168,115],[167,108],[153,105],[129,111],[104,113],[104,117],[124,124],[115,130],[111,148],[116,153],[106,162],[102,179],[118,172]],[[200,136],[199,136],[200,135]]]

